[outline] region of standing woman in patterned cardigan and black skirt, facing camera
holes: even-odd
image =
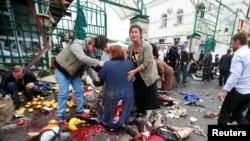
[[[132,60],[136,68],[129,71],[128,79],[135,79],[136,112],[138,116],[150,115],[150,111],[147,113],[147,110],[160,108],[156,84],[158,71],[152,53],[152,46],[142,39],[142,28],[137,24],[130,26],[129,36],[132,44],[128,47],[128,59]]]

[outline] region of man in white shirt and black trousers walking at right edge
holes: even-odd
[[[222,103],[218,117],[219,125],[227,125],[230,116],[238,124],[248,125],[243,112],[250,104],[250,49],[247,46],[245,33],[237,33],[232,38],[232,49],[234,51],[231,60],[230,75],[222,90],[217,94]]]

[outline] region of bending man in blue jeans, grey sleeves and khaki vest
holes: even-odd
[[[104,62],[92,58],[92,54],[95,48],[103,49],[107,45],[108,39],[105,36],[86,36],[85,40],[75,39],[57,55],[53,67],[59,86],[56,115],[59,122],[64,120],[70,84],[73,87],[76,100],[76,117],[90,118],[83,111],[81,77],[84,71],[87,71],[92,78],[95,76],[91,67],[102,67]]]

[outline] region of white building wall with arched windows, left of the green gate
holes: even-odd
[[[159,44],[184,41],[192,34],[195,7],[187,0],[154,0],[146,5],[149,40]]]

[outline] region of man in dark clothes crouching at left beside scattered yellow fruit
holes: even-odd
[[[0,92],[4,99],[13,99],[16,109],[19,108],[20,98],[18,92],[23,92],[26,100],[32,100],[33,94],[38,92],[37,77],[30,70],[23,69],[21,66],[13,66],[2,76]]]

